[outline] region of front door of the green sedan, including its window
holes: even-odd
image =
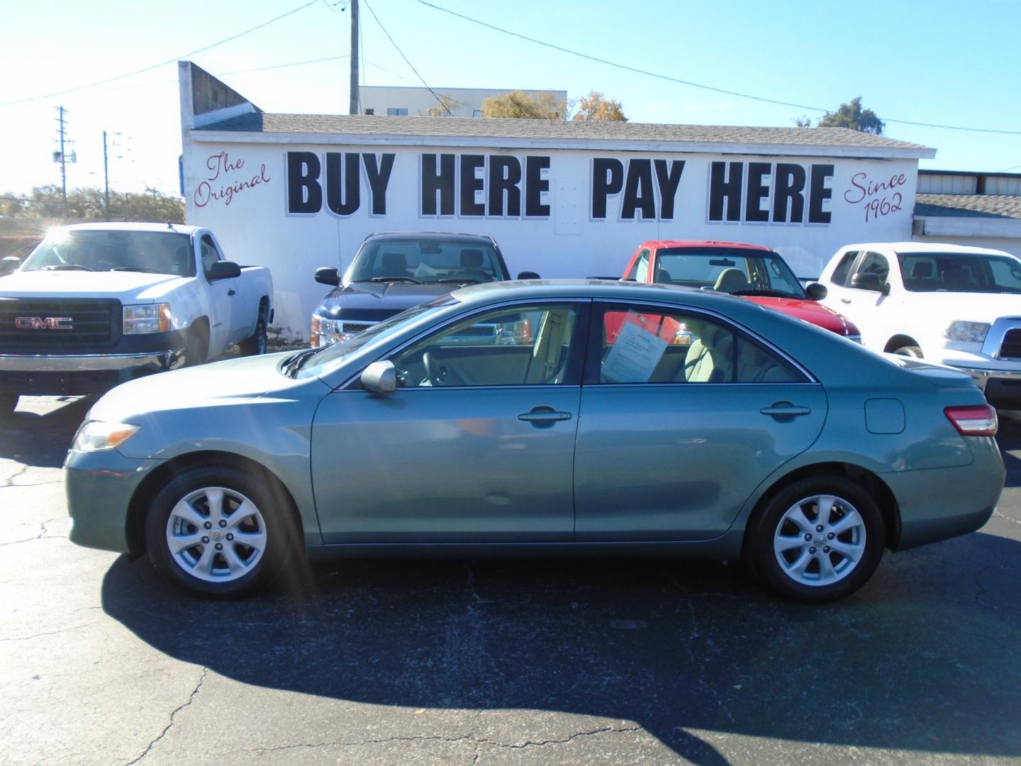
[[[454,321],[389,355],[392,393],[327,395],[311,434],[325,542],[572,539],[588,305]]]

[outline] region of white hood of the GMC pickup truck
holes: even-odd
[[[155,300],[185,278],[145,272],[14,272],[0,277],[0,296],[18,298],[94,297],[120,302]]]

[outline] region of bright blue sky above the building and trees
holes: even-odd
[[[305,0],[307,2],[307,0]],[[102,131],[119,133],[110,182],[178,187],[177,67],[48,96],[175,59],[303,5],[302,0],[3,0],[0,191],[59,183],[56,109],[78,162],[68,186],[102,186]],[[262,29],[186,56],[266,111],[346,112],[349,11],[318,0]],[[723,90],[835,108],[862,96],[886,135],[935,147],[922,167],[1021,172],[1021,2],[783,3],[735,0],[435,0],[490,25],[631,67]],[[419,0],[360,0],[364,85],[420,85],[373,17],[433,88],[602,91],[632,122],[791,126],[820,112],[667,82],[538,46]],[[264,68],[276,66],[277,68]],[[255,70],[258,69],[258,70]],[[47,96],[40,98],[41,96]],[[26,100],[21,103],[11,103]]]

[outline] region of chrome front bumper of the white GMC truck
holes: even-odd
[[[98,393],[183,364],[180,348],[140,353],[0,354],[0,390],[42,395]]]

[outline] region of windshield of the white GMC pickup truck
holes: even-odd
[[[191,238],[180,232],[66,231],[44,239],[21,271],[151,272],[195,276]]]

